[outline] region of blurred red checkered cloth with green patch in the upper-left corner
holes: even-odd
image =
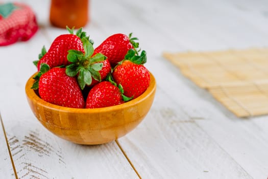
[[[0,46],[29,40],[38,30],[36,17],[25,4],[0,4]]]

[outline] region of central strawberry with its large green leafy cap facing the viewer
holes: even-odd
[[[87,39],[82,39],[85,53],[69,50],[67,59],[71,64],[66,66],[66,74],[74,77],[78,75],[81,89],[86,85],[92,86],[106,78],[111,71],[111,65],[106,56],[94,53],[92,44]],[[94,54],[94,55],[92,55]]]

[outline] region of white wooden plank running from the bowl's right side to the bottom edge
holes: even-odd
[[[158,87],[142,124],[118,140],[142,178],[252,178],[195,120],[183,115],[176,101],[161,93]]]

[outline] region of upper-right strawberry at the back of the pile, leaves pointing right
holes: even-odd
[[[131,35],[129,37],[125,34],[111,35],[95,49],[95,52],[104,54],[114,67],[117,62],[124,59],[129,49],[138,48],[139,43],[134,41],[137,38],[131,38]]]

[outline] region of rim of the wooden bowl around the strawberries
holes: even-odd
[[[65,112],[70,112],[70,113],[77,113],[77,114],[88,114],[88,113],[102,113],[102,112],[107,112],[107,111],[114,111],[114,110],[120,110],[120,109],[124,109],[130,106],[133,106],[143,100],[145,100],[147,97],[151,96],[152,93],[154,93],[154,91],[156,90],[156,81],[155,81],[155,77],[154,75],[150,73],[150,84],[149,87],[137,98],[132,99],[128,102],[125,102],[123,104],[118,104],[118,105],[114,105],[114,106],[109,106],[109,107],[101,107],[101,108],[72,108],[72,107],[64,107],[64,106],[59,106],[56,104],[52,104],[49,102],[44,101],[43,99],[41,99],[35,92],[34,89],[31,89],[33,83],[34,83],[34,79],[33,77],[37,74],[38,72],[36,72],[35,74],[33,74],[28,81],[26,82],[26,86],[25,86],[25,91],[26,91],[26,95],[28,96],[28,98],[30,98],[31,100],[33,100],[34,102],[41,104],[43,106],[46,106],[47,108],[51,108],[53,110],[58,110],[58,111],[65,111]]]

